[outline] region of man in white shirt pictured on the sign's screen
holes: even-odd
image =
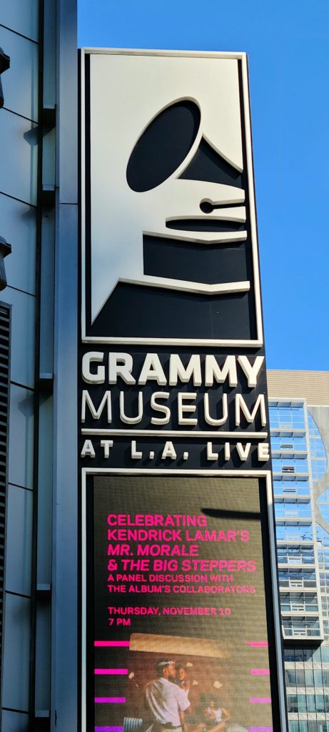
[[[175,684],[175,661],[167,658],[156,664],[158,678],[145,687],[145,701],[154,719],[154,732],[186,732],[185,714],[189,709],[186,692]]]

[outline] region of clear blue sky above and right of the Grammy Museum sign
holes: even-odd
[[[269,368],[329,368],[328,0],[78,0],[80,46],[246,51]]]

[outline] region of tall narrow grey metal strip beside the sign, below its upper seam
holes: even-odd
[[[52,710],[57,728],[72,732],[77,730],[77,206],[59,206],[56,252]],[[55,730],[53,716],[52,725]]]

